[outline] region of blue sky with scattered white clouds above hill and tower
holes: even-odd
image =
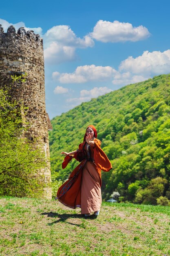
[[[50,118],[124,85],[170,73],[169,0],[7,1],[0,24],[44,40]]]

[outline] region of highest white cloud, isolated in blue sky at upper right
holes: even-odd
[[[128,22],[119,22],[118,20],[113,22],[99,20],[90,35],[92,38],[103,43],[116,43],[122,41],[136,42],[143,40],[148,38],[150,33],[144,26],[133,27],[132,24]]]

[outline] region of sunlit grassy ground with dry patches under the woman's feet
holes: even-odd
[[[103,203],[85,219],[53,200],[0,198],[0,256],[170,256],[170,207]]]

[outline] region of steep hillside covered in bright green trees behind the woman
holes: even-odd
[[[78,162],[62,170],[61,151],[78,148],[89,124],[113,169],[102,173],[102,195],[144,204],[170,203],[170,74],[127,85],[55,117],[49,134],[53,191]]]

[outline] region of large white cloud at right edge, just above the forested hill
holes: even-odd
[[[145,51],[137,58],[130,56],[121,62],[119,71],[128,71],[143,76],[168,73],[170,72],[170,49],[164,52]]]

